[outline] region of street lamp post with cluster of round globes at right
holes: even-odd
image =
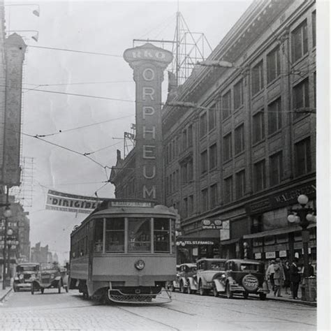
[[[304,277],[308,277],[308,265],[309,265],[309,230],[307,227],[309,223],[316,221],[316,216],[314,216],[314,209],[306,207],[309,199],[304,194],[297,197],[297,202],[301,205],[300,208],[290,209],[291,214],[288,215],[288,221],[290,223],[297,223],[302,228],[302,248],[303,248],[303,258],[304,258]]]

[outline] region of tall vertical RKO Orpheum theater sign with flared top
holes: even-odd
[[[135,81],[135,180],[138,196],[161,200],[161,84],[172,53],[150,43],[124,52]]]

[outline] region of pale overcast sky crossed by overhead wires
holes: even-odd
[[[47,135],[112,119],[45,138],[80,153],[113,145],[91,155],[98,163],[111,167],[116,163],[116,149],[123,153],[122,140],[113,138],[122,138],[124,131],[130,131],[135,115],[133,71],[122,54],[132,47],[134,38],[172,40],[177,1],[36,3],[40,5],[40,17],[31,14],[34,6],[6,7],[7,29],[39,33],[36,43],[31,39],[34,32],[20,32],[27,37],[28,45],[23,87],[127,101],[24,90],[23,132]],[[179,1],[179,10],[191,31],[203,32],[214,49],[250,3],[250,0]],[[33,46],[107,53],[115,57]],[[91,82],[94,84],[75,84]],[[166,89],[163,84],[165,92]],[[31,246],[39,241],[43,246],[49,244],[50,250],[57,251],[60,260],[64,260],[68,257],[71,230],[86,214],[45,210],[47,190],[93,196],[108,179],[109,170],[106,174],[100,165],[83,156],[27,136],[23,136],[23,156],[34,157],[35,163],[33,205],[26,208],[30,213]],[[100,189],[98,196],[114,197],[112,184]]]

